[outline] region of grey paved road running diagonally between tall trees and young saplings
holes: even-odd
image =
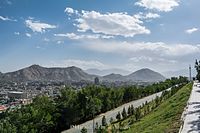
[[[170,90],[171,88],[167,89],[167,90]],[[107,123],[109,123],[110,121],[110,118],[112,117],[114,120],[115,120],[115,117],[117,115],[117,113],[120,111],[122,112],[123,108],[125,107],[125,109],[127,110],[128,107],[130,105],[133,105],[134,108],[136,107],[139,107],[141,106],[143,103],[145,103],[146,101],[147,102],[150,102],[152,101],[153,99],[156,98],[156,96],[161,96],[162,92],[159,92],[159,93],[156,93],[156,94],[153,94],[153,95],[150,95],[150,96],[147,96],[147,97],[144,97],[142,99],[139,99],[139,100],[135,100],[135,101],[131,101],[129,103],[126,103],[126,104],[123,104],[121,106],[119,106],[118,108],[115,108],[113,110],[110,110],[104,114],[100,114],[99,116],[97,116],[95,119],[94,119],[94,123],[98,122],[98,125],[101,125],[101,121],[102,121],[102,117],[105,116],[106,117],[106,120],[107,120]],[[91,133],[92,132],[92,127],[93,127],[93,120],[90,120],[90,121],[87,121],[83,124],[80,124],[80,125],[77,125],[75,126],[74,128],[71,128],[71,129],[68,129],[68,130],[65,130],[63,131],[62,133],[80,133],[80,130],[85,127],[87,128],[87,131],[88,133]]]

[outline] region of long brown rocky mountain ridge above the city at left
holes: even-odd
[[[67,68],[45,68],[39,65],[32,65],[30,67],[5,73],[2,80],[11,81],[81,81],[93,80],[94,75],[85,73],[80,68],[75,66]]]

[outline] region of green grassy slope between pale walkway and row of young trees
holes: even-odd
[[[192,84],[188,84],[161,103],[150,114],[131,125],[126,133],[175,133],[181,125],[181,114],[186,106]]]

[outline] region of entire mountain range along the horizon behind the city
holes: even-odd
[[[101,81],[142,81],[157,82],[165,80],[165,77],[158,72],[148,68],[140,69],[129,75],[122,76],[120,74],[109,74],[106,76],[98,76],[88,74],[82,69],[72,66],[67,68],[46,68],[39,65],[32,65],[15,72],[0,73],[0,80],[3,81],[94,81],[95,77],[99,77]]]

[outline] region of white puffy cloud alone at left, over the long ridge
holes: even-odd
[[[25,21],[26,26],[30,28],[33,32],[43,33],[46,29],[54,29],[55,25],[50,25],[47,23],[41,23],[40,21],[33,21],[32,19],[28,19]]]

